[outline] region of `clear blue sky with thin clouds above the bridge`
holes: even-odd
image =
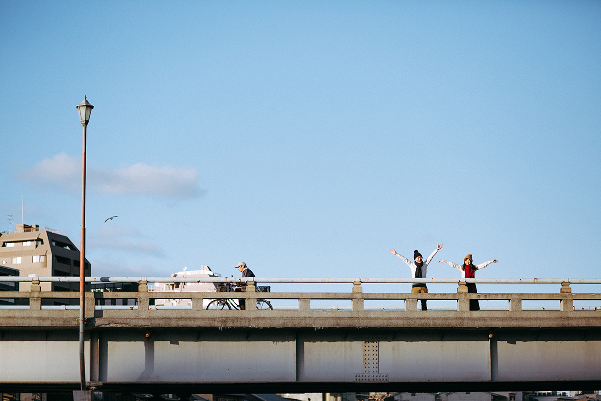
[[[598,278],[601,2],[0,0],[1,230],[93,275]],[[116,219],[105,219],[117,215]],[[433,263],[429,277],[458,277]]]

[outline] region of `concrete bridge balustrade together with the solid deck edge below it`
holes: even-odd
[[[44,281],[79,281],[78,277],[0,277],[0,281],[30,281],[31,291],[0,292],[0,299],[15,299],[15,305],[0,306],[0,328],[15,326],[72,326],[76,324],[79,307],[50,306],[52,299],[76,299],[78,292],[42,292],[40,282]],[[162,320],[159,325],[175,326],[277,326],[277,327],[341,327],[393,326],[399,321],[404,326],[451,327],[459,326],[511,326],[530,327],[546,326],[555,319],[553,326],[601,326],[601,294],[573,293],[572,286],[577,284],[601,284],[596,279],[412,279],[412,278],[174,278],[174,277],[87,277],[87,282],[135,282],[137,292],[88,292],[85,294],[86,319],[90,327],[103,325],[145,325],[150,320]],[[246,292],[154,292],[148,290],[148,283],[156,282],[246,282]],[[351,284],[350,292],[270,292],[257,293],[256,283],[313,283]],[[398,293],[398,292],[364,292],[364,284],[395,283],[427,283],[457,284],[456,293]],[[495,284],[561,284],[558,293],[468,293],[467,283]],[[328,286],[325,286],[327,290]],[[435,286],[430,287],[435,291]],[[204,305],[212,299],[246,299],[246,310],[206,310]],[[50,300],[43,301],[44,299]],[[130,306],[103,306],[106,300],[135,300]],[[186,299],[191,300],[188,307],[155,307],[152,299]],[[257,299],[267,299],[274,310],[256,308]],[[418,310],[418,300],[427,299],[432,308],[432,301],[444,301],[453,307],[438,308],[427,311]],[[502,301],[506,306],[483,307],[480,311],[470,311],[470,299],[480,301]],[[99,301],[100,300],[100,301]],[[319,301],[319,302],[318,302]],[[331,301],[332,307],[319,304]],[[400,307],[365,307],[366,302],[386,302],[404,304]],[[451,302],[449,302],[451,301]],[[539,310],[524,308],[523,302],[543,301],[555,307],[539,307]],[[588,301],[590,306],[578,310],[574,301]],[[337,305],[350,304],[350,307]],[[484,302],[486,303],[486,302]],[[28,305],[27,305],[28,304]],[[284,305],[285,306],[282,306]],[[454,306],[456,305],[456,307]],[[374,310],[377,309],[377,310]],[[569,319],[566,319],[569,317]],[[400,319],[400,320],[399,320]],[[373,324],[372,324],[373,323]],[[153,323],[154,324],[154,323]]]

